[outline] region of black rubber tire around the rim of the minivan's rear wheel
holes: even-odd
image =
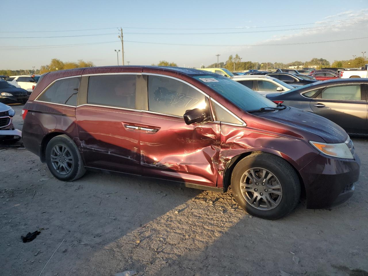
[[[59,170],[61,172],[59,172],[54,167],[55,162],[52,162],[52,151],[54,147],[56,146],[57,147],[64,146],[69,151],[70,155],[68,154],[68,158],[72,160],[72,163],[68,164],[67,170],[70,170],[70,171],[67,171],[66,169],[60,170],[61,169],[60,168]],[[53,152],[53,154],[54,153],[55,152]],[[59,136],[52,138],[46,146],[45,157],[46,157],[47,167],[49,167],[49,170],[51,171],[53,176],[59,180],[73,181],[73,180],[76,180],[82,177],[86,172],[86,169],[83,165],[82,157],[78,151],[77,145],[75,145],[73,140],[67,135],[59,135]],[[63,158],[63,156],[61,156],[60,158]],[[63,161],[65,159],[60,159],[60,160]]]

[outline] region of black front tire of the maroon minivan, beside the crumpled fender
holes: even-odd
[[[271,174],[273,174],[273,176],[267,181],[261,180],[260,183],[253,184],[251,181],[252,169],[258,177],[254,178],[254,180],[262,178],[259,177],[259,175],[263,173],[263,171],[266,171],[267,176]],[[251,177],[245,174],[247,171],[248,175],[249,172],[251,172]],[[241,181],[248,181],[246,184],[247,186],[240,184]],[[269,185],[262,182],[268,182]],[[271,184],[273,183],[276,185],[272,186]],[[255,184],[259,186],[255,186]],[[261,187],[261,185],[263,185],[263,187]],[[272,188],[279,185],[281,186],[280,189],[265,189],[266,187]],[[262,192],[260,193],[259,191],[260,189],[262,189],[263,197],[260,196],[260,194],[262,194]],[[255,190],[257,191],[255,192]],[[278,192],[281,197],[280,195],[270,192],[271,190]],[[250,215],[261,217],[262,219],[274,220],[280,219],[294,210],[300,199],[300,181],[296,171],[286,160],[270,153],[252,153],[240,160],[234,167],[231,174],[231,191],[240,207]],[[264,198],[266,197],[266,192],[268,192],[267,197],[272,199],[272,204],[276,202],[275,204],[270,204],[271,201]],[[254,200],[254,195],[257,195],[257,197],[255,197],[256,199],[259,197],[258,208],[256,208],[255,202],[251,204],[251,201]],[[250,199],[250,197],[252,198]],[[247,200],[245,198],[247,198]],[[274,200],[273,198],[276,199]],[[254,201],[256,201],[256,199]],[[263,204],[263,206],[261,204]],[[268,207],[268,205],[271,207]]]

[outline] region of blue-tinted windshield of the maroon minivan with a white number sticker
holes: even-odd
[[[262,107],[276,107],[276,103],[271,102],[261,94],[222,75],[197,75],[193,78],[212,88],[244,111],[256,110]]]

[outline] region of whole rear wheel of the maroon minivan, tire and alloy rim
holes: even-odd
[[[73,181],[85,174],[81,155],[67,135],[52,138],[46,146],[46,163],[59,180]]]

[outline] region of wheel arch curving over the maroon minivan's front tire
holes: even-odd
[[[301,197],[305,198],[306,192],[305,192],[305,185],[304,185],[304,181],[299,173],[299,171],[296,169],[296,167],[289,161],[287,160],[287,158],[284,158],[284,156],[279,153],[279,154],[275,154],[273,152],[269,152],[269,151],[249,151],[249,152],[243,152],[240,153],[239,155],[234,156],[233,158],[231,158],[230,162],[227,164],[226,169],[224,170],[224,177],[223,177],[223,190],[224,192],[227,191],[227,189],[229,188],[229,186],[231,185],[231,173],[234,170],[234,167],[236,166],[237,163],[239,163],[240,160],[244,159],[245,157],[251,155],[252,153],[257,153],[257,152],[264,152],[264,153],[269,153],[275,156],[278,156],[282,159],[284,159],[287,163],[290,164],[291,167],[293,167],[293,169],[296,171],[299,181],[300,181],[300,189],[301,189]]]

